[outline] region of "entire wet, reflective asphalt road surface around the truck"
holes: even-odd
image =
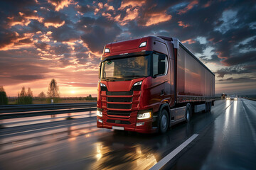
[[[97,129],[95,117],[78,115],[7,123],[0,169],[149,169],[193,134],[199,135],[164,169],[256,167],[256,101],[216,101],[209,113],[195,113],[164,135]]]

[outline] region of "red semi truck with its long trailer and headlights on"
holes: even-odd
[[[97,128],[164,133],[208,112],[215,74],[177,38],[149,36],[105,45],[100,62]]]

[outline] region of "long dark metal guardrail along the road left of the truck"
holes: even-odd
[[[55,115],[82,111],[95,111],[97,108],[96,106],[96,102],[0,106],[0,120],[39,115]]]

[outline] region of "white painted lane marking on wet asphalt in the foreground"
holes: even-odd
[[[149,169],[149,170],[161,169],[161,167],[163,167],[165,164],[167,164],[167,162],[171,161],[171,159],[173,159],[176,156],[176,154],[181,152],[181,150],[184,149],[190,142],[192,142],[194,139],[196,139],[196,137],[198,137],[198,134],[194,134],[191,137],[189,137],[188,140],[186,140],[181,145],[179,145],[171,153],[167,154],[166,157],[164,157],[159,162],[154,164],[154,166],[152,166],[151,169]]]

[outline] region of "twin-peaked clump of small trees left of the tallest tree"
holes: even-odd
[[[28,87],[28,91],[26,92],[25,87],[21,88],[21,93],[18,94],[18,99],[16,101],[17,104],[32,104],[33,103],[33,92],[31,88]]]

